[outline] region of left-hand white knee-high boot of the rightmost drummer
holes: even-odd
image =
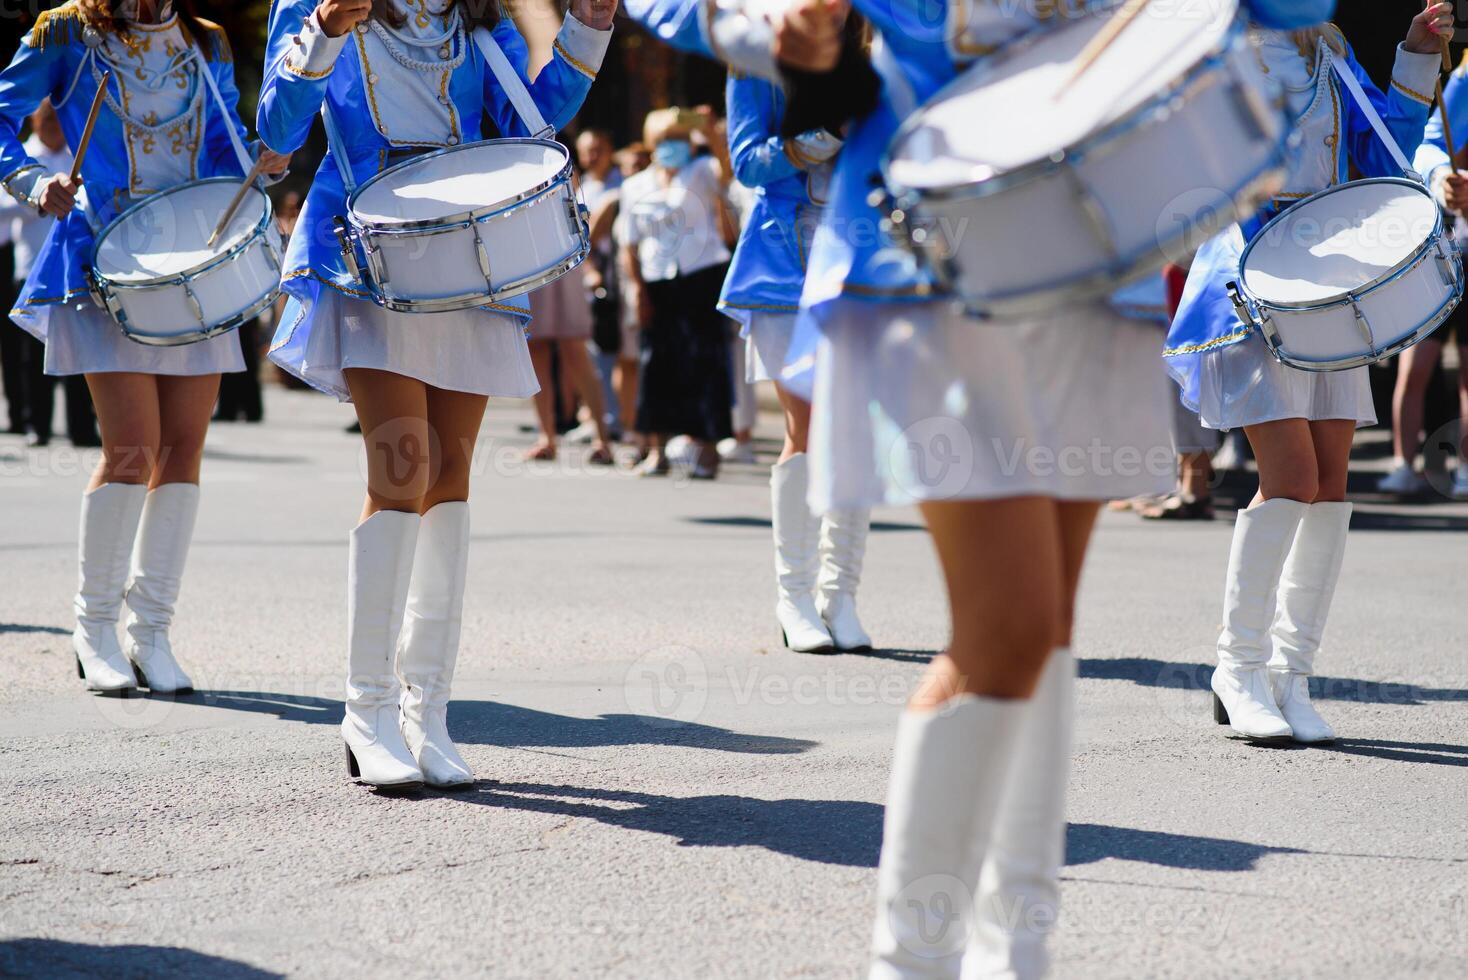
[[[1270,690],[1270,626],[1284,556],[1308,503],[1274,497],[1239,511],[1223,590],[1223,632],[1213,672],[1213,716],[1257,741],[1289,741]]]

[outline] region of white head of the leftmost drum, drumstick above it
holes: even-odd
[[[153,195],[103,236],[97,271],[119,283],[147,282],[192,271],[223,255],[254,233],[269,207],[264,191],[250,188],[210,248],[208,236],[238,191],[233,180],[208,180]]]

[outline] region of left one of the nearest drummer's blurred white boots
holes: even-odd
[[[994,814],[1029,701],[963,694],[897,723],[871,980],[957,977]]]

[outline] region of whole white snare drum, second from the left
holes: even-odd
[[[571,154],[487,139],[383,170],[336,223],[346,270],[399,312],[471,310],[539,289],[590,252]]]

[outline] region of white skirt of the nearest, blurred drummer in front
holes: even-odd
[[[1173,489],[1163,334],[1104,305],[982,323],[835,304],[816,355],[810,502],[1105,500]]]

